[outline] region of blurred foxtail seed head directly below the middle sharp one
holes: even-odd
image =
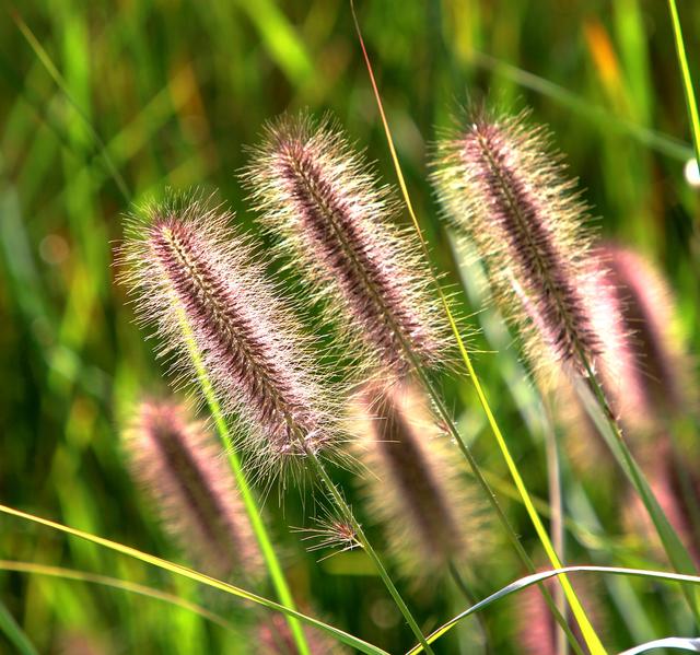
[[[420,391],[373,379],[354,398],[350,421],[370,516],[384,525],[404,571],[421,578],[451,560],[474,563],[489,531],[486,508]]]

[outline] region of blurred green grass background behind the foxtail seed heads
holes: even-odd
[[[457,277],[427,182],[430,144],[470,102],[530,106],[534,119],[552,128],[586,200],[603,217],[600,232],[635,247],[668,277],[689,344],[699,352],[700,203],[684,177],[692,151],[666,4],[358,5],[410,192],[435,264],[451,271],[448,281]],[[700,7],[680,2],[679,12],[698,79]],[[182,561],[135,489],[119,447],[131,403],[166,388],[164,367],[114,281],[120,217],[131,201],[167,186],[197,185],[219,189],[237,220],[252,226],[236,178],[247,161],[245,147],[257,141],[266,120],[301,108],[332,112],[393,183],[349,4],[30,0],[3,2],[0,16],[1,499]],[[28,34],[48,59],[42,60]],[[490,348],[480,337],[474,344]],[[546,498],[541,444],[528,436],[504,387],[503,362],[483,353],[476,363],[530,490]],[[444,386],[480,461],[505,480],[469,385],[452,377]],[[528,383],[524,387],[527,393]],[[615,536],[621,500],[595,483],[587,495],[573,487],[573,521],[595,525],[590,503]],[[306,514],[312,504],[307,499]],[[393,652],[412,644],[362,554],[316,564],[289,533],[289,525],[305,522],[298,492],[287,494],[284,512],[275,494],[266,510],[302,606]],[[522,507],[513,503],[509,511],[537,559]],[[245,608],[190,584],[15,519],[0,518],[0,557],[149,583],[246,624]],[[571,561],[642,561],[633,538],[600,542],[575,535]],[[520,574],[500,545],[468,577],[475,595],[485,596]],[[405,586],[427,630],[464,608],[446,583],[428,593]],[[255,652],[185,610],[117,590],[19,574],[2,574],[0,590],[43,653]],[[687,628],[682,610],[669,609],[679,603],[676,589],[630,583],[615,593],[633,598],[628,616],[620,605],[602,601],[600,613],[616,627],[607,634],[611,647]],[[495,652],[516,651],[509,645],[514,613],[517,599],[487,615]],[[445,640],[441,648],[457,652],[458,640]]]

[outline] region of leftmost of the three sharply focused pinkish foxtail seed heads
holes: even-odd
[[[307,341],[229,229],[232,215],[187,199],[143,214],[124,246],[126,280],[162,353],[191,378],[194,340],[224,411],[245,423],[241,447],[256,466],[275,471],[329,446],[332,419]]]

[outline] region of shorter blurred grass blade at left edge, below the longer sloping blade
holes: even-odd
[[[62,566],[50,566],[47,564],[37,564],[35,562],[19,562],[15,560],[0,560],[0,570],[46,575],[49,577],[60,577],[61,580],[85,582],[112,587],[114,589],[120,589],[122,592],[130,592],[132,594],[145,596],[147,598],[154,598],[155,600],[163,600],[164,603],[176,605],[182,609],[199,615],[203,619],[207,619],[225,630],[234,632],[236,630],[233,623],[226,621],[222,616],[208,610],[206,607],[185,600],[179,596],[175,596],[175,594],[168,594],[167,592],[129,582],[128,580],[119,580],[118,577],[109,577],[107,575],[100,575],[88,571],[75,571],[74,569],[63,569]]]

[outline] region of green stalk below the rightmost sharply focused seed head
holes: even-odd
[[[625,442],[620,426],[605,396],[605,391],[593,372],[587,358],[583,352],[579,352],[579,356],[583,363],[586,377],[583,381],[583,389],[582,385],[579,384],[578,390],[582,396],[586,410],[607,442],[618,464],[642,499],[644,507],[654,524],[672,566],[678,573],[696,573],[697,569],[692,562],[692,558],[668,522],[668,518],[651,490],[644,473],[640,469],[637,460]],[[591,398],[586,398],[586,391],[593,396],[593,403],[591,402]],[[598,411],[596,412],[595,409]],[[600,421],[600,414],[603,421]],[[691,593],[685,586],[681,588],[690,607],[690,611],[696,619],[696,623],[700,625],[700,609],[698,608],[696,594],[695,592]]]

